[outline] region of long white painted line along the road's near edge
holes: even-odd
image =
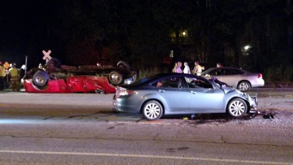
[[[155,156],[155,155],[137,155],[137,154],[86,153],[86,152],[50,152],[50,151],[15,151],[15,150],[0,150],[0,153],[83,155],[83,156],[116,156],[116,157],[178,159],[178,160],[211,161],[211,162],[227,162],[227,163],[262,164],[262,165],[293,165],[293,163],[289,163],[289,162],[246,161],[246,160],[233,160],[233,159],[196,158],[196,157],[163,156],[163,155]]]

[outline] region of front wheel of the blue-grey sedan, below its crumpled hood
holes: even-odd
[[[232,99],[227,105],[227,112],[233,118],[241,118],[247,112],[247,104],[240,98]]]

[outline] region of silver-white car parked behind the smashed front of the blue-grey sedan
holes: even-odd
[[[261,73],[251,73],[247,70],[234,67],[213,67],[202,73],[202,77],[210,79],[216,77],[219,81],[225,82],[243,92],[251,87],[261,87],[265,85]]]

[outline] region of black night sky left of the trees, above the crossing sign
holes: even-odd
[[[20,67],[28,56],[28,67],[34,67],[44,62],[42,50],[57,54],[47,42],[57,23],[54,0],[0,0],[0,6],[0,61]]]

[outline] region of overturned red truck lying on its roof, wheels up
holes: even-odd
[[[32,93],[115,93],[115,86],[131,83],[136,72],[130,70],[127,62],[113,65],[83,65],[79,67],[61,65],[50,59],[45,65],[28,71],[23,85]]]

